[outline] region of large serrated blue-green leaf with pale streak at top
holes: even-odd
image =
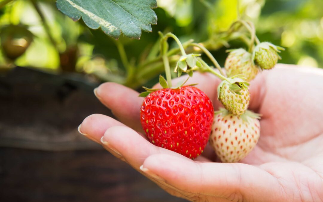
[[[122,32],[139,39],[141,30],[151,32],[151,25],[157,24],[152,10],[157,7],[156,0],[57,0],[56,6],[74,21],[82,17],[88,27],[101,27],[113,38],[119,38]]]

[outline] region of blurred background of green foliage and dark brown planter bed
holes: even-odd
[[[240,0],[238,12],[237,0],[157,5],[151,33],[115,40],[53,0],[0,1],[0,201],[183,201],[77,132],[90,114],[113,117],[93,94],[100,83],[157,82],[158,31],[202,42],[223,66],[226,49],[244,46],[223,34],[240,15],[260,41],[286,48],[279,62],[323,67],[322,0]]]

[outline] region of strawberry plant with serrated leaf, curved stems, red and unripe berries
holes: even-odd
[[[39,2],[36,0],[30,0],[30,2],[43,21],[43,27],[52,45],[57,49],[64,47],[51,33]],[[211,5],[205,1],[202,4],[211,8]],[[137,53],[140,52],[136,51],[137,47],[133,47],[131,54],[137,54],[136,60],[129,57],[130,51],[126,51],[125,45],[130,43],[129,38],[140,39],[142,31],[152,32],[152,25],[157,24],[157,15],[154,12],[157,11],[156,0],[57,0],[56,6],[61,13],[73,21],[82,19],[80,24],[90,28],[92,36],[83,35],[83,40],[91,38],[95,41],[99,30],[93,29],[99,28],[105,35],[113,38],[109,39],[111,43],[107,43],[108,40],[99,40],[96,43],[100,45],[106,43],[104,44],[106,48],[111,48],[112,44],[113,51],[109,54],[113,56],[119,54],[124,71],[120,73],[120,69],[117,68],[119,72],[114,74],[111,72],[116,69],[111,68],[109,74],[95,73],[98,78],[118,82],[138,90],[140,86],[151,82],[159,75],[162,88],[143,87],[146,91],[140,94],[145,97],[140,110],[141,125],[152,144],[188,158],[196,158],[202,154],[211,134],[210,142],[216,154],[224,162],[239,161],[253,149],[259,138],[260,125],[257,120],[259,116],[248,111],[249,81],[253,80],[259,72],[274,68],[280,59],[278,53],[283,48],[269,42],[261,42],[256,36],[255,26],[251,21],[237,14],[235,20],[231,21],[231,25],[225,29],[221,27],[221,31],[210,34],[207,40],[201,43],[195,43],[189,38],[181,42],[177,36],[167,31],[167,27],[164,27],[161,31],[152,33],[156,35],[158,33],[159,39],[150,41],[147,47],[140,50],[141,54]],[[237,11],[240,12],[239,8]],[[24,26],[10,25],[9,27]],[[32,33],[26,27],[24,29],[28,35],[23,36],[27,43],[25,47],[18,47],[21,51],[11,57],[12,60],[20,57],[32,43]],[[7,40],[12,37],[11,35],[13,34],[1,35],[3,50],[8,49],[7,47],[12,45],[10,43],[14,43],[11,42],[12,40]],[[73,40],[69,33],[65,33],[65,37],[66,42]],[[169,43],[170,38],[175,40],[178,48],[174,47],[173,43]],[[228,42],[231,40],[244,44],[236,49],[227,50],[228,56],[223,69],[210,51],[228,47]],[[73,71],[79,63],[76,59],[78,46],[67,44],[65,44],[65,50],[61,48],[63,51],[59,52],[62,60],[60,65],[63,71]],[[10,58],[7,52],[5,51],[5,55]],[[64,58],[68,61],[64,62]],[[91,59],[88,58],[88,60]],[[73,67],[70,68],[70,65]],[[114,66],[114,63],[111,61],[109,65]],[[194,86],[185,85],[194,71],[208,72],[222,80],[217,88],[217,99],[225,110],[216,112],[214,115],[212,101],[207,95]],[[166,79],[160,74],[164,74]],[[182,75],[187,76],[187,79],[172,86],[172,78]],[[231,123],[233,125],[237,123],[241,127],[234,128]],[[224,128],[227,129],[224,130]],[[240,135],[233,140],[230,136],[230,134],[242,134],[242,131],[247,133],[247,137]],[[223,134],[220,135],[220,133]],[[223,139],[219,136],[232,144],[227,141],[222,142]],[[248,139],[249,136],[253,139]],[[241,150],[237,149],[237,145],[240,146],[239,141],[241,143],[244,140],[251,142],[246,143]],[[235,144],[234,141],[238,143]]]

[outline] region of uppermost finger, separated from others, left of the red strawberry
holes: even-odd
[[[117,83],[103,83],[94,90],[97,98],[124,124],[142,132],[140,107],[143,98],[139,93]]]

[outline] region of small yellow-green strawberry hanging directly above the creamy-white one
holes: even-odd
[[[234,115],[243,114],[249,105],[249,83],[240,78],[223,80],[218,86],[218,99]]]

